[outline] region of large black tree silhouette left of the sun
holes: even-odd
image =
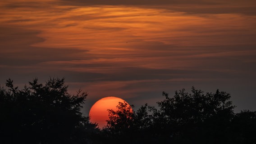
[[[89,138],[95,126],[82,115],[87,94],[68,93],[64,78],[50,78],[46,84],[38,79],[22,90],[7,80],[0,88],[1,143],[79,144]]]

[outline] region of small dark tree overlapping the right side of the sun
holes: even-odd
[[[142,106],[133,111],[133,105],[126,102],[119,102],[117,110],[109,109],[109,120],[103,130],[108,135],[111,143],[141,144],[145,143],[149,137],[148,128],[151,126],[151,115],[148,114],[148,106]]]

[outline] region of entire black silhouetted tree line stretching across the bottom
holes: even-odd
[[[104,129],[81,113],[87,94],[68,93],[64,79],[35,79],[22,90],[0,88],[1,144],[256,144],[256,112],[234,113],[230,94],[192,87],[163,92],[157,107],[133,111],[120,102]]]

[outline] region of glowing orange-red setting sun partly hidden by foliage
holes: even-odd
[[[99,128],[103,128],[107,124],[106,120],[109,119],[109,112],[107,111],[107,109],[116,110],[116,106],[119,102],[126,101],[114,96],[109,96],[98,100],[92,105],[90,109],[90,121],[93,123],[98,123]]]

